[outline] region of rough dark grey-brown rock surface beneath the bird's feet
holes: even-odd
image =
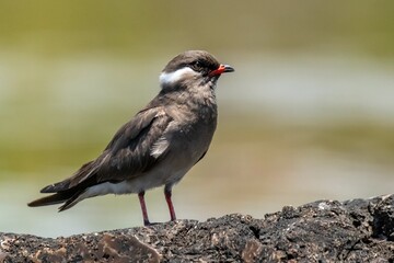
[[[394,195],[57,239],[0,232],[0,262],[394,262]]]

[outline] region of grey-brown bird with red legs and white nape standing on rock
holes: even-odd
[[[176,220],[172,188],[206,155],[218,119],[216,87],[234,68],[205,50],[187,50],[167,62],[160,92],[123,125],[103,152],[70,178],[50,184],[31,207],[61,204],[59,211],[94,196],[138,194],[143,225],[151,225],[148,190],[164,186],[171,221]]]

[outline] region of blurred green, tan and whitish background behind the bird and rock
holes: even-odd
[[[393,1],[2,0],[0,231],[140,226],[135,195],[60,214],[25,204],[95,158],[187,49],[236,71],[218,84],[210,151],[174,188],[178,218],[392,193],[393,13]],[[147,202],[169,219],[161,188]]]

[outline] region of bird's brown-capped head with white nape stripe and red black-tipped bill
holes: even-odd
[[[177,55],[165,66],[160,75],[160,84],[163,90],[207,84],[213,89],[222,73],[232,71],[231,66],[219,64],[207,52],[189,50]]]

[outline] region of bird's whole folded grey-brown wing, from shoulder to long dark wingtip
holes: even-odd
[[[171,121],[160,106],[139,112],[119,128],[97,159],[83,164],[71,178],[44,187],[42,193],[119,182],[148,171],[166,153],[169,145],[163,133]]]

